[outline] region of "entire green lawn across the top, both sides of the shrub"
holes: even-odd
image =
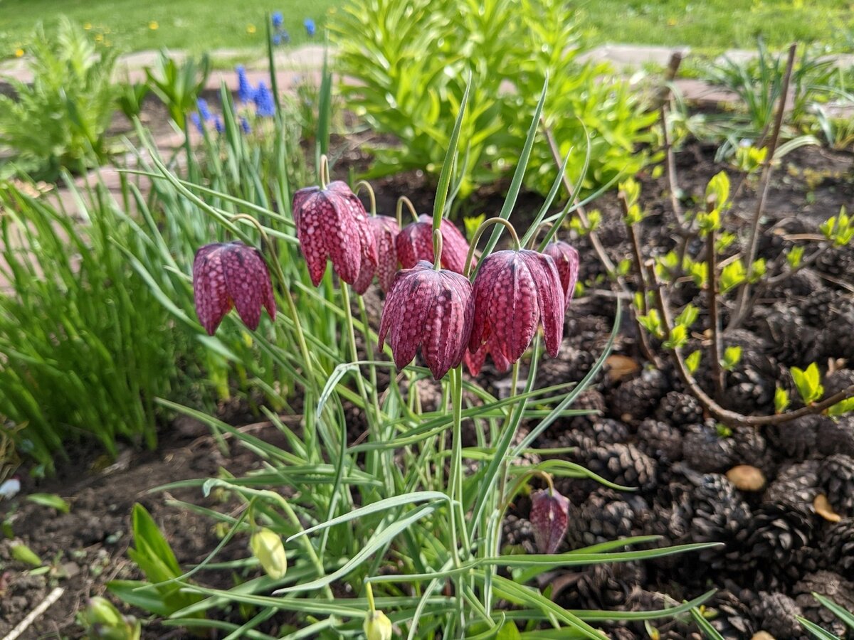
[[[126,50],[202,51],[252,48],[263,38],[264,14],[280,10],[295,44],[305,42],[302,21],[322,27],[331,0],[0,0],[0,58],[26,48],[26,37],[38,20],[61,13],[90,26],[105,43]],[[790,42],[831,44],[854,50],[850,0],[582,0],[568,3],[576,12],[590,44],[689,44],[719,52],[749,49],[761,35],[775,48]],[[618,19],[615,20],[615,16]]]

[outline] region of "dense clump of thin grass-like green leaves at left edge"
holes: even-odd
[[[179,367],[191,373],[195,360],[116,244],[137,242],[124,207],[102,186],[70,193],[82,219],[0,188],[0,414],[48,471],[69,440],[97,439],[111,455],[120,438],[154,446],[154,399],[187,397]]]

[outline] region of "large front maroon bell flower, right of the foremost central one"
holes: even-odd
[[[474,282],[475,320],[466,364],[480,372],[486,353],[506,371],[522,357],[538,326],[546,350],[558,355],[564,329],[564,293],[549,256],[528,249],[497,251],[483,260]]]

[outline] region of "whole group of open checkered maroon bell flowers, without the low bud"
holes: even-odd
[[[578,253],[565,242],[553,242],[543,253],[521,248],[509,223],[494,218],[486,224],[510,227],[516,247],[490,253],[470,279],[467,263],[474,252],[447,219],[435,233],[424,215],[401,229],[395,218],[369,216],[341,181],[298,190],[292,211],[314,286],[328,262],[358,294],[377,278],[387,294],[379,342],[389,341],[399,368],[420,351],[437,380],[463,362],[477,375],[487,355],[504,372],[522,357],[538,329],[546,351],[558,355],[578,276]],[[208,334],[232,306],[250,329],[257,328],[262,307],[275,317],[266,264],[256,249],[240,242],[202,247],[193,286],[196,312]]]

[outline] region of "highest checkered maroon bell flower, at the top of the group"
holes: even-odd
[[[371,273],[377,269],[377,243],[365,207],[346,183],[337,180],[325,189],[300,189],[294,194],[293,212],[296,237],[315,287],[323,279],[327,258],[338,277],[350,284],[363,269]]]

